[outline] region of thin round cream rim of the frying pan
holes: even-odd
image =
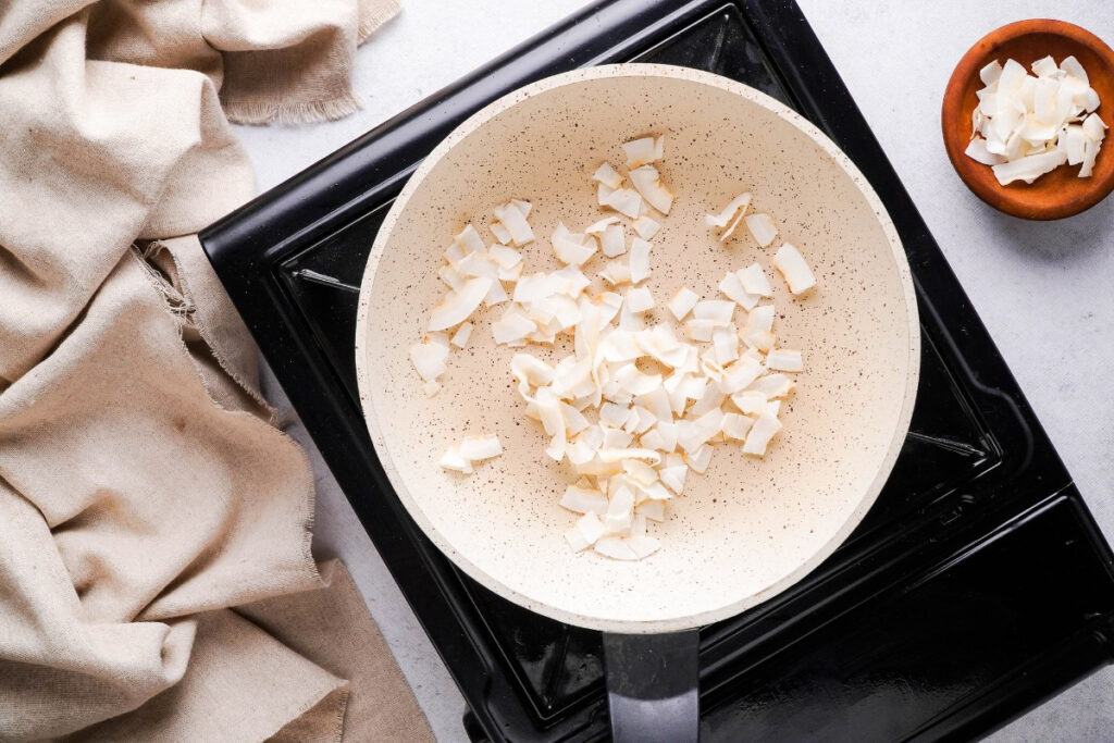
[[[405,483],[402,481],[399,470],[394,466],[390,449],[387,446],[385,437],[379,427],[378,418],[374,412],[374,404],[372,402],[369,381],[368,354],[367,349],[364,348],[369,307],[371,305],[370,296],[372,284],[374,283],[377,268],[379,266],[380,258],[383,255],[387,242],[410,197],[422,184],[426,176],[446,156],[446,154],[452,149],[458,141],[462,140],[472,131],[483,126],[487,121],[520,100],[525,100],[528,97],[568,85],[583,84],[595,79],[622,77],[666,77],[719,88],[721,90],[739,95],[751,102],[770,110],[815,141],[825,151],[825,154],[836,162],[844,174],[851,178],[852,183],[867,199],[868,205],[873,209],[876,217],[879,219],[882,232],[890,245],[891,257],[893,258],[898,271],[905,299],[907,317],[907,348],[909,351],[908,364],[906,366],[907,374],[905,395],[901,401],[901,410],[899,411],[898,422],[886,450],[886,454],[882,458],[878,472],[876,473],[874,479],[870,482],[864,497],[859,500],[856,508],[844,519],[844,521],[840,525],[840,528],[836,530],[832,537],[807,560],[803,560],[800,565],[798,565],[797,568],[786,573],[762,590],[749,594],[734,602],[730,602],[697,614],[649,620],[604,616],[603,614],[606,612],[607,607],[600,607],[604,609],[600,615],[589,616],[565,609],[560,606],[538,602],[489,575],[483,569],[467,559],[462,553],[457,550],[456,547],[453,547],[453,545],[438,531],[431,520],[426,516],[421,506],[410,496]],[[873,506],[877,500],[879,492],[889,479],[889,475],[895,462],[897,461],[898,454],[900,453],[906,434],[908,433],[920,377],[920,325],[912,274],[909,268],[905,250],[901,245],[901,239],[897,234],[897,228],[893,226],[889,213],[878,194],[871,187],[870,183],[856,167],[851,159],[827,135],[784,104],[742,82],[736,82],[711,72],[704,72],[685,67],[651,63],[622,63],[604,65],[599,67],[563,72],[509,92],[485,106],[482,109],[461,123],[430,153],[428,157],[426,157],[424,160],[422,160],[414,173],[410,176],[405,186],[395,198],[394,204],[391,206],[391,209],[388,212],[387,217],[383,219],[383,224],[380,227],[374,244],[372,245],[371,253],[368,256],[368,263],[364,268],[363,280],[360,287],[360,301],[355,331],[355,353],[360,403],[364,421],[368,426],[369,433],[371,434],[372,444],[379,456],[380,463],[387,472],[388,480],[390,481],[391,487],[394,488],[394,491],[403,507],[407,509],[407,512],[411,518],[413,518],[422,532],[429,537],[438,549],[440,549],[457,567],[463,570],[465,574],[485,587],[494,590],[504,598],[518,604],[519,606],[537,612],[544,616],[558,622],[590,629],[624,634],[651,634],[691,629],[693,627],[700,627],[740,614],[747,608],[772,598],[776,594],[801,580],[843,544],[847,537],[862,521],[867,511],[870,510],[871,506]]]

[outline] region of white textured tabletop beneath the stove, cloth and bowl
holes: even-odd
[[[1114,536],[1114,198],[1053,224],[1000,215],[948,163],[938,113],[951,69],[994,28],[1057,18],[1114,41],[1108,0],[798,0],[1016,374],[1104,532]],[[342,121],[241,128],[261,189],[586,4],[403,0],[358,59],[365,108]],[[1103,107],[1105,109],[1106,106]],[[1110,123],[1111,115],[1104,118]],[[285,404],[282,392],[268,393]],[[465,741],[465,705],[320,456],[315,547],[344,558],[441,741]],[[1038,597],[1034,597],[1038,600]],[[1114,741],[1114,671],[1095,674],[994,736]]]

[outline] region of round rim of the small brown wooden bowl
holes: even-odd
[[[976,168],[988,166],[967,157],[965,149],[968,139],[959,141],[954,134],[950,124],[964,109],[964,91],[967,81],[978,74],[984,57],[989,50],[995,49],[1008,41],[1028,35],[1052,35],[1059,36],[1079,46],[1091,49],[1093,52],[1104,58],[1111,68],[1114,68],[1114,49],[1111,49],[1101,38],[1091,31],[1069,23],[1067,21],[1052,18],[1030,18],[1014,21],[1001,26],[976,41],[956,65],[951,77],[948,79],[944,92],[944,101],[940,106],[940,130],[944,136],[944,147],[948,153],[948,159],[956,174],[964,182],[973,194],[983,202],[1006,214],[1027,219],[1062,219],[1074,216],[1081,212],[1089,209],[1095,204],[1106,198],[1114,190],[1114,169],[1101,179],[1095,179],[1091,188],[1079,198],[1073,201],[1054,201],[1046,204],[1033,205],[1017,199],[1008,190],[996,183],[988,186],[985,182],[971,177]]]

